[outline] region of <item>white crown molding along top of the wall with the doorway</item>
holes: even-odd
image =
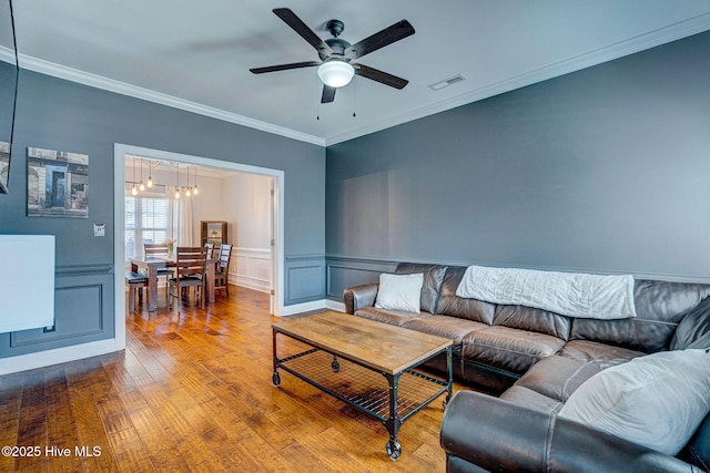
[[[53,62],[44,61],[42,59],[33,58],[27,54],[18,54],[20,68],[39,72],[41,74],[51,75],[58,79],[75,82],[83,85],[89,85],[95,89],[102,89],[109,92],[114,92],[122,95],[128,95],[134,99],[141,99],[161,105],[171,106],[173,109],[184,110],[185,112],[192,112],[212,119],[222,120],[224,122],[235,123],[237,125],[248,126],[250,128],[260,130],[267,133],[285,136],[293,140],[315,144],[318,146],[325,146],[325,140],[320,136],[301,133],[295,130],[286,128],[283,126],[273,125],[271,123],[262,122],[260,120],[250,119],[248,116],[239,115],[236,113],[226,112],[224,110],[215,109],[213,106],[203,105],[189,100],[180,99],[173,95],[163,94],[160,92],[151,91],[149,89],[131,85],[125,82],[115,81],[101,75],[92,74],[89,72],[80,71],[78,69],[68,68],[65,65],[55,64]]]

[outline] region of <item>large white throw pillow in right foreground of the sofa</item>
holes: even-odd
[[[677,455],[710,411],[710,350],[662,351],[585,381],[559,411],[567,418]]]

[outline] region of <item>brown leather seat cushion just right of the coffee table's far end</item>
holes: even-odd
[[[537,361],[555,354],[564,346],[565,340],[549,335],[489,327],[464,337],[462,358],[523,374]]]

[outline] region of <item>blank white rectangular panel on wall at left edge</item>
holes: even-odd
[[[54,235],[0,235],[0,333],[54,326]]]

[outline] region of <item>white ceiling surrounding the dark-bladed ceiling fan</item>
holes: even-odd
[[[708,0],[22,0],[20,66],[329,145],[710,30]],[[355,43],[407,19],[416,33],[358,62],[409,80],[356,76],[320,104],[317,60],[273,12]],[[427,85],[462,73],[440,91]],[[356,117],[353,117],[353,113]],[[320,115],[321,120],[316,120]]]

